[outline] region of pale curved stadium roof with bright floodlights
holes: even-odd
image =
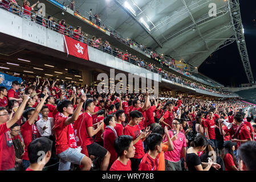
[[[216,5],[216,16],[209,16],[215,6],[210,3]],[[226,0],[76,0],[78,5],[99,14],[101,22],[124,38],[192,67],[235,40]]]

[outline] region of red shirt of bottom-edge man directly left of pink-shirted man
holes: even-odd
[[[159,166],[159,157],[156,156],[155,159],[151,158],[150,155],[147,154],[144,155],[142,158],[140,165],[139,165],[139,171],[157,171],[157,168]]]

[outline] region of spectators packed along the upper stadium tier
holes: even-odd
[[[70,36],[73,39],[79,40],[80,42],[88,43],[89,46],[95,47],[97,49],[101,49],[102,51],[107,52],[107,53],[111,53],[113,56],[119,57],[120,59],[123,59],[125,61],[129,61],[130,63],[136,64],[139,67],[143,67],[148,70],[151,70],[152,72],[159,73],[162,76],[164,76],[165,78],[167,78],[168,80],[172,80],[172,81],[178,82],[180,84],[190,86],[192,88],[202,89],[202,90],[206,90],[206,91],[213,92],[213,93],[230,94],[228,92],[222,92],[221,90],[217,90],[215,88],[211,88],[210,86],[206,86],[206,85],[203,85],[196,81],[188,80],[185,77],[177,76],[173,73],[170,73],[168,71],[168,69],[173,68],[178,73],[180,73],[184,76],[196,78],[195,76],[192,77],[192,73],[190,73],[188,71],[183,71],[182,69],[177,68],[176,61],[174,59],[167,60],[166,57],[163,55],[159,55],[153,51],[149,52],[148,49],[145,46],[143,46],[142,44],[139,46],[139,48],[142,51],[148,51],[147,53],[151,56],[151,58],[153,60],[155,60],[157,63],[160,63],[160,67],[157,67],[157,65],[153,64],[153,63],[147,63],[145,60],[137,57],[136,55],[132,55],[131,53],[128,53],[127,50],[122,51],[121,49],[119,49],[117,47],[111,46],[111,44],[109,44],[109,42],[107,40],[102,41],[101,38],[96,38],[95,36],[92,36],[92,40],[89,40],[87,38],[88,34],[86,34],[86,32],[84,32],[84,31],[82,31],[82,27],[80,27],[80,26],[77,26],[76,28],[73,26],[67,27],[66,21],[64,19],[58,20],[57,22],[55,22],[54,17],[51,15],[48,15],[47,19],[45,19],[45,18],[43,18],[42,8],[34,10],[34,13],[32,13],[31,12],[32,9],[36,5],[38,5],[38,3],[39,3],[39,1],[36,2],[34,5],[30,6],[30,2],[24,0],[23,1],[23,9],[24,9],[23,17],[26,19],[29,19],[35,23],[38,23],[44,27],[50,28],[51,30],[57,31],[60,34]],[[74,3],[75,3],[75,1],[70,2],[70,6],[68,6],[68,7],[72,7],[74,5]],[[67,5],[65,5],[65,6],[67,6]],[[11,11],[13,13],[19,13],[19,10],[17,9],[18,4],[15,0],[11,0],[11,1],[3,0],[0,7],[8,9],[9,11]],[[96,24],[99,26],[99,24],[100,24],[99,23],[100,21],[98,19],[99,15],[97,15],[97,14],[92,15],[92,9],[90,9],[89,14],[90,14],[90,20],[92,20],[92,16],[94,16],[96,19]],[[132,40],[125,40],[125,41],[128,41],[129,44],[135,45],[135,42],[133,42]],[[196,78],[196,80],[200,80],[200,79]],[[207,81],[204,81],[204,82],[207,82]]]

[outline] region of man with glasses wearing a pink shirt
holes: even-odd
[[[184,165],[186,167],[186,137],[183,133],[180,132],[181,121],[178,118],[174,118],[172,122],[173,130],[169,130],[169,136],[172,138],[173,142],[173,151],[167,151],[164,153],[165,159],[165,171],[182,171],[181,168],[181,152],[184,158]],[[166,142],[167,139],[164,139]]]

